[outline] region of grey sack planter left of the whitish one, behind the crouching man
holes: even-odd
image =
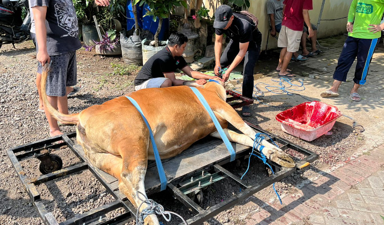
[[[120,46],[123,61],[128,64],[143,64],[143,52],[141,50],[141,35],[134,32],[130,37],[125,36],[125,31],[120,33]]]

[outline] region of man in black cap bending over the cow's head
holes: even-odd
[[[227,5],[219,6],[216,9],[214,22],[216,29],[215,74],[220,76],[220,70],[228,66],[225,72],[222,71],[223,81],[227,81],[230,73],[244,58],[243,96],[252,98],[253,68],[260,54],[261,33],[257,29],[257,18],[248,14],[249,16],[243,12],[232,12]],[[226,34],[231,40],[220,58],[223,34]],[[251,116],[248,106],[243,106],[242,116]]]

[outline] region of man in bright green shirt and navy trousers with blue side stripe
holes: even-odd
[[[347,31],[348,37],[336,70],[333,74],[332,87],[320,94],[321,97],[337,97],[338,87],[347,80],[347,74],[357,57],[354,85],[350,97],[353,101],[360,101],[357,89],[365,84],[368,75],[369,64],[380,40],[381,30],[384,24],[380,24],[384,12],[384,0],[353,0],[348,13]]]

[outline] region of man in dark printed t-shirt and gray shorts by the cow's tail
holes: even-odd
[[[81,48],[75,8],[71,0],[30,0],[33,22],[31,35],[36,43],[37,73],[51,63],[47,78],[47,98],[54,108],[68,114],[66,86],[76,85],[76,50]],[[45,110],[49,136],[62,134],[57,120]]]

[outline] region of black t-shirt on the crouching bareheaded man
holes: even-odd
[[[167,73],[174,73],[176,69],[183,69],[187,65],[182,56],[174,58],[168,47],[165,47],[145,62],[136,76],[135,86],[149,79],[164,77],[164,74]]]

